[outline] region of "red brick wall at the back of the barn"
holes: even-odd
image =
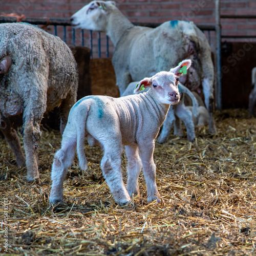
[[[89,2],[88,0],[0,0],[0,13],[14,12],[27,17],[70,17]],[[132,22],[162,23],[171,19],[183,19],[191,20],[196,24],[215,24],[215,0],[117,0],[116,3]],[[221,14],[255,15],[256,1],[221,0]],[[221,22],[223,35],[256,35],[256,19],[222,19]],[[53,29],[49,28],[49,30]],[[102,40],[105,40],[104,35]],[[94,44],[97,42],[95,41]]]

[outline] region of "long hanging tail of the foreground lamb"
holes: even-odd
[[[86,120],[89,112],[89,106],[83,105],[84,109],[77,112],[77,155],[79,160],[79,166],[82,170],[87,170],[87,159],[86,154],[84,154],[84,137],[86,135]],[[80,109],[81,110],[81,109]]]

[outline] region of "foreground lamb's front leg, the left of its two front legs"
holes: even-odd
[[[137,146],[125,146],[125,153],[127,157],[127,191],[132,197],[134,194],[140,195],[139,190],[139,174],[141,171],[142,163],[139,157]]]

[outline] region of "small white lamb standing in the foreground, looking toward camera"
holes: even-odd
[[[147,185],[147,200],[161,202],[153,159],[155,139],[170,104],[180,100],[178,81],[182,75],[180,69],[185,65],[189,68],[191,60],[183,60],[169,72],[161,71],[141,80],[135,92],[143,87],[150,88],[146,93],[120,98],[88,96],[77,101],[70,111],[61,149],[54,156],[50,203],[63,200],[63,180],[76,149],[79,166],[87,169],[83,148],[86,136],[90,145],[98,142],[104,150],[101,160],[103,177],[119,205],[128,204],[133,194],[139,194],[141,167]],[[122,144],[127,156],[127,190],[121,172]]]

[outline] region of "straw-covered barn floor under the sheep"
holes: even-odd
[[[88,171],[75,160],[65,203],[49,207],[59,132],[42,128],[40,184],[27,183],[26,168],[17,168],[0,139],[0,253],[8,244],[11,255],[256,255],[256,118],[247,116],[243,109],[216,112],[218,135],[197,127],[193,143],[170,135],[156,144],[164,204],[146,201],[141,173],[141,197],[128,209],[118,207],[104,182],[100,147],[85,145]]]

